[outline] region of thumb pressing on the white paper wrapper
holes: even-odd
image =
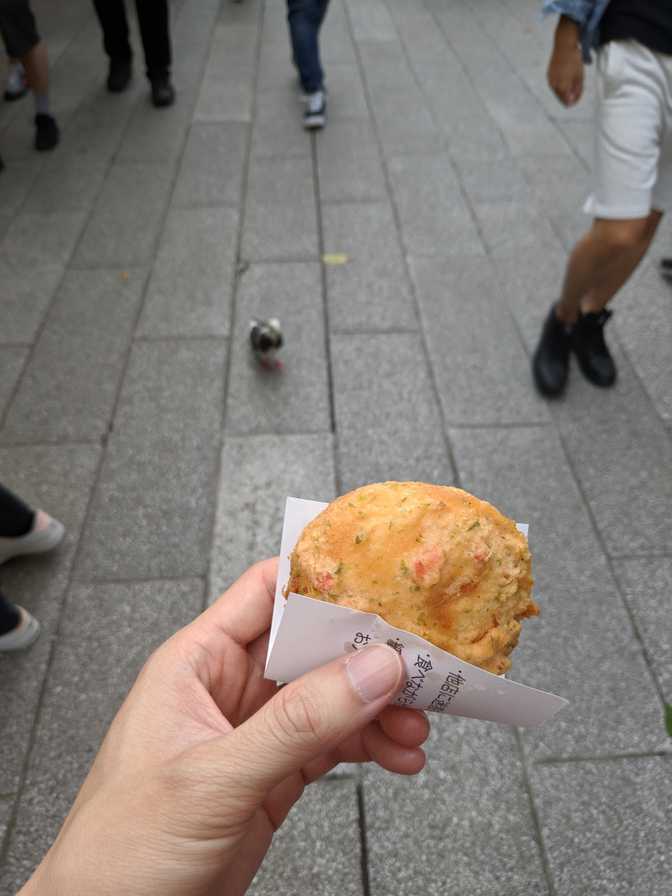
[[[223,744],[234,766],[229,772],[235,771],[229,780],[241,797],[249,796],[248,807],[375,718],[402,673],[395,650],[372,644],[288,684],[228,734]]]

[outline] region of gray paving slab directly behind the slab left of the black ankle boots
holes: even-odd
[[[473,216],[446,154],[390,160],[404,244],[411,255],[483,255]]]

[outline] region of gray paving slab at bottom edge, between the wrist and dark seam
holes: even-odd
[[[273,838],[248,892],[251,896],[362,896],[357,789],[353,781],[323,781],[306,789]]]

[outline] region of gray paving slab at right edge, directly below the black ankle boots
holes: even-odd
[[[672,442],[616,346],[616,388],[578,374],[557,419],[586,500],[614,556],[672,553]]]

